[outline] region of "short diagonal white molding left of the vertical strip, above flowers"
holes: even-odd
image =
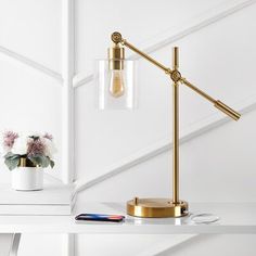
[[[59,74],[59,73],[35,62],[26,56],[23,56],[16,52],[13,52],[4,47],[0,47],[0,53],[4,54],[5,56],[10,57],[13,61],[21,63],[22,65],[24,65],[27,68],[36,69],[37,72],[40,72],[47,76],[50,76],[50,77],[56,79],[59,82],[62,82],[62,75],[61,74]]]

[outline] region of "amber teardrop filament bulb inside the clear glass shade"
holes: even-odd
[[[124,74],[123,71],[114,69],[111,72],[110,92],[113,97],[119,98],[125,93]]]

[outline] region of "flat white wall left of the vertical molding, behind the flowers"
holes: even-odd
[[[0,1],[0,130],[49,131],[59,145],[56,170],[61,156],[61,84],[37,69],[24,65],[4,52],[15,52],[50,68],[61,69],[61,0]],[[10,174],[0,162],[1,180]]]

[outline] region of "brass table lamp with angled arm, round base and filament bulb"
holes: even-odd
[[[137,217],[145,218],[163,218],[163,217],[181,217],[189,213],[189,205],[185,201],[179,199],[179,86],[180,84],[185,85],[193,91],[197,92],[206,100],[210,101],[214,106],[222,111],[225,114],[238,120],[240,114],[219,100],[215,100],[210,95],[206,94],[204,91],[200,90],[185,78],[183,78],[178,71],[179,68],[179,52],[178,48],[174,48],[172,55],[172,69],[164,66],[159,62],[155,61],[144,52],[137,49],[135,46],[129,43],[126,39],[121,37],[119,33],[112,34],[113,47],[108,49],[108,59],[106,62],[105,73],[110,74],[108,84],[104,81],[103,78],[99,78],[101,84],[104,84],[103,93],[111,98],[110,101],[120,101],[121,98],[127,97],[126,103],[129,103],[131,92],[129,91],[128,84],[132,81],[129,77],[125,76],[125,68],[130,71],[128,64],[125,60],[125,47],[129,48],[133,52],[140,54],[142,57],[159,67],[165,72],[167,76],[172,80],[172,199],[139,199],[135,197],[127,202],[127,214]],[[100,74],[101,76],[101,74]],[[105,74],[106,76],[106,74]],[[128,82],[128,84],[126,84]],[[101,103],[106,104],[106,99],[101,98]],[[101,104],[100,103],[100,104]]]

